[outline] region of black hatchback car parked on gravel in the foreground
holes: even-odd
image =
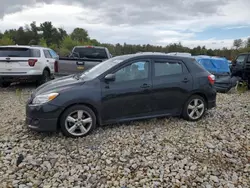
[[[49,81],[27,102],[26,122],[37,131],[81,137],[96,125],[163,116],[197,121],[216,106],[215,77],[195,59],[166,54],[111,58]]]

